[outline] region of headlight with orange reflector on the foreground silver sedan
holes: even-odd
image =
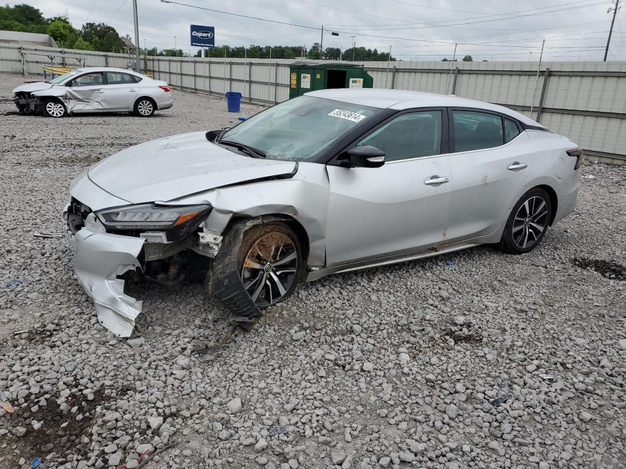
[[[156,206],[131,205],[96,212],[105,226],[117,229],[165,230],[181,226],[187,221],[210,211],[210,205]]]

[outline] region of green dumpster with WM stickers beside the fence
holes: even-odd
[[[289,68],[289,98],[316,89],[373,88],[374,79],[362,65],[294,62]]]

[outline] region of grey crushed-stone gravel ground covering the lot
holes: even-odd
[[[0,98],[22,83],[0,75]],[[625,468],[626,167],[522,256],[485,246],[300,287],[251,333],[200,285],[135,285],[113,340],[72,278],[71,180],[108,154],[232,123],[174,91],[151,119],[0,103],[0,468]],[[258,107],[244,105],[246,113]],[[446,265],[453,261],[454,265]],[[19,281],[17,285],[16,280]],[[145,461],[145,460],[144,460]]]

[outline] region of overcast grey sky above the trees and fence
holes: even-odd
[[[138,0],[140,46],[195,53],[190,24],[215,26],[215,44],[228,46],[303,45],[324,48],[357,46],[388,51],[404,60],[440,60],[469,54],[474,60],[602,60],[614,2],[583,0],[177,0],[287,24],[245,19],[160,0]],[[17,2],[24,3],[24,2]],[[108,23],[120,36],[133,31],[132,0],[26,0],[46,17],[68,16],[76,28],[86,21]],[[11,2],[11,4],[15,4]],[[620,21],[620,17],[622,21]],[[309,26],[309,29],[302,28]],[[385,36],[385,37],[382,37]],[[175,39],[176,37],[176,39]],[[433,41],[433,42],[431,42]],[[532,54],[530,54],[532,53]],[[626,60],[626,8],[617,13],[608,60]]]

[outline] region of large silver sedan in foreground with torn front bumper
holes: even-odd
[[[100,323],[126,337],[131,276],[203,280],[253,322],[300,280],[486,243],[527,253],[575,207],[581,158],[494,104],[314,91],[109,156],[76,178],[63,219]]]

